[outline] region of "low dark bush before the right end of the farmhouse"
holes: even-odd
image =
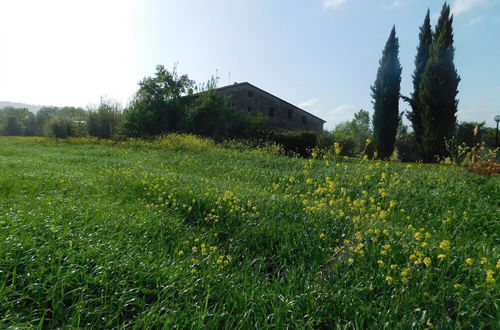
[[[302,157],[309,157],[318,145],[318,135],[314,131],[275,131],[270,139],[282,145],[286,153]]]

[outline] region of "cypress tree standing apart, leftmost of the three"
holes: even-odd
[[[378,157],[389,157],[394,150],[399,122],[399,92],[401,88],[401,64],[399,41],[393,27],[382,52],[377,78],[372,90],[373,142]]]

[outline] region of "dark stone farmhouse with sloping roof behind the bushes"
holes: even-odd
[[[237,110],[250,116],[262,114],[268,124],[275,129],[323,131],[325,121],[299,107],[290,104],[254,85],[235,83],[216,91],[229,98],[229,103]]]

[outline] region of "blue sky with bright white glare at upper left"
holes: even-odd
[[[459,121],[500,114],[500,0],[451,0]],[[393,25],[412,91],[419,27],[438,0],[0,0],[0,101],[123,106],[158,64],[250,82],[327,121],[372,112]],[[408,110],[401,102],[400,111]]]

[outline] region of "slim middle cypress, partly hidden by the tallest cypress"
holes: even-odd
[[[432,44],[432,28],[430,12],[427,10],[424,23],[420,27],[419,45],[417,47],[417,56],[415,56],[415,71],[413,72],[413,93],[411,97],[402,98],[411,106],[411,111],[406,113],[406,117],[411,122],[413,131],[415,132],[415,139],[417,146],[421,149],[421,136],[422,136],[422,118],[421,118],[421,105],[418,100],[420,91],[420,82],[422,80],[422,73],[424,72],[427,61],[430,57],[430,49]]]

